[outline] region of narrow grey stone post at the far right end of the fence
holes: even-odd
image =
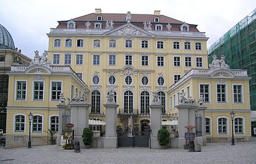
[[[205,137],[205,106],[199,106],[197,108],[197,114],[202,117],[201,127],[202,127],[202,137],[196,137],[196,143],[200,143],[203,146],[207,145],[207,138]]]

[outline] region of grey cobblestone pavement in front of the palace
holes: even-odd
[[[202,152],[185,149],[119,148],[64,150],[61,146],[0,148],[0,163],[256,163],[256,142],[208,143]]]

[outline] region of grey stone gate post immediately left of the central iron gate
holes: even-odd
[[[113,102],[104,104],[106,108],[106,137],[104,137],[104,148],[117,148],[117,107]]]

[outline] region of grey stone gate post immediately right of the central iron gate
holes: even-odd
[[[162,128],[162,108],[161,103],[152,103],[150,106],[151,123],[150,128],[152,133],[150,134],[150,146],[152,149],[159,149],[161,146],[158,143],[158,131]]]

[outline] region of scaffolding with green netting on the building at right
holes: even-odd
[[[256,9],[225,33],[208,52],[208,63],[213,55],[224,55],[231,69],[246,69],[250,80],[251,110],[256,111]]]

